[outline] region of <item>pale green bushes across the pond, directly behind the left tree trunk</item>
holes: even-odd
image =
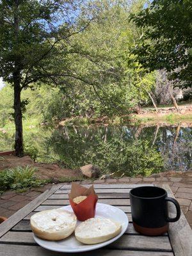
[[[70,116],[67,112],[67,104],[63,102],[63,94],[58,88],[50,88],[46,84],[37,86],[33,84],[35,90],[30,88],[21,92],[21,100],[23,102],[23,118],[24,124],[26,121],[30,126],[33,126],[31,116],[33,120],[37,120],[35,125],[41,122],[52,122],[56,119],[60,119],[66,115]],[[12,86],[6,84],[2,90],[0,90],[0,127],[9,127],[13,122],[13,92]],[[26,108],[26,104],[28,108]],[[65,108],[64,108],[65,106]],[[12,125],[13,126],[13,125]],[[26,127],[24,127],[24,130]]]

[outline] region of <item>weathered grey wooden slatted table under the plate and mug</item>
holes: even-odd
[[[90,186],[90,185],[83,185]],[[191,256],[192,231],[183,213],[180,220],[170,223],[170,230],[163,236],[149,237],[138,234],[132,226],[129,191],[141,184],[94,184],[99,202],[115,205],[122,209],[129,218],[125,234],[115,243],[105,248],[81,253],[81,256]],[[153,186],[153,185],[150,185]],[[172,196],[168,185],[163,185]],[[58,253],[46,250],[35,243],[29,225],[31,215],[35,212],[54,209],[68,205],[70,185],[56,185],[38,196],[31,203],[17,211],[0,225],[0,255],[2,256],[72,256],[75,253]],[[175,211],[169,205],[170,216]],[[76,253],[77,255],[78,253]],[[79,254],[80,255],[80,254]]]

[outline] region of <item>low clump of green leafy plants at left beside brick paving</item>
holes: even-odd
[[[46,184],[46,180],[36,178],[35,172],[36,168],[32,168],[31,166],[18,166],[0,172],[0,190],[26,189]]]

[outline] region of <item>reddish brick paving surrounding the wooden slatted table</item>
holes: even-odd
[[[136,177],[129,178],[125,177],[122,179],[105,179],[105,180],[83,180],[78,182],[80,184],[99,184],[99,183],[129,183],[129,184],[169,184],[170,188],[175,195],[175,198],[179,201],[180,207],[184,212],[189,225],[192,228],[192,177],[186,177],[185,175],[177,175],[177,177]],[[67,183],[69,184],[69,183]],[[17,212],[24,205],[29,204],[31,200],[35,199],[36,196],[43,193],[45,190],[50,188],[52,184],[47,184],[42,188],[29,189],[24,193],[16,193],[15,191],[6,191],[1,195],[0,199],[0,216],[10,217],[12,214]]]

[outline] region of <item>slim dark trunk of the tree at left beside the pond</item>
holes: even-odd
[[[15,36],[15,50],[19,48],[19,0],[14,1],[14,36]],[[15,119],[15,155],[22,157],[23,139],[22,139],[22,111],[20,102],[20,58],[15,55],[13,71],[13,87],[14,87],[14,119]]]

